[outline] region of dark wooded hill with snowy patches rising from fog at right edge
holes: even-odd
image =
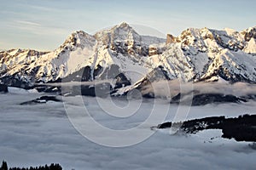
[[[169,128],[177,122],[164,122],[157,128]],[[236,118],[212,116],[182,122],[185,133],[197,133],[207,129],[222,129],[222,138],[236,141],[256,142],[256,115],[244,115]]]

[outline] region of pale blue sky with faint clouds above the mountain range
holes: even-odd
[[[125,21],[140,34],[178,36],[189,27],[256,26],[253,0],[0,0],[0,49],[53,50],[73,31],[94,34]],[[137,29],[136,29],[137,28]]]

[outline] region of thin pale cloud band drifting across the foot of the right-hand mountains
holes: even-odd
[[[153,93],[157,97],[173,97],[179,93],[189,94],[231,94],[247,96],[256,94],[256,85],[246,82],[181,82],[179,80],[153,82],[143,88],[142,93]]]

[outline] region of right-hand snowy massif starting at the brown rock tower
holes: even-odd
[[[183,50],[187,81],[221,77],[231,82],[255,82],[255,38],[256,27],[241,32],[190,28],[179,37],[167,36],[167,42]]]

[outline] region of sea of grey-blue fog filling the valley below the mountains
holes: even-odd
[[[52,162],[64,169],[255,167],[253,143],[222,139],[221,130],[172,134],[151,128],[177,119],[181,111],[185,120],[253,115],[254,101],[189,106],[170,105],[167,99],[57,96],[61,101],[20,105],[44,94],[14,88],[0,95],[0,160],[11,167]],[[104,127],[102,133],[90,120]]]

